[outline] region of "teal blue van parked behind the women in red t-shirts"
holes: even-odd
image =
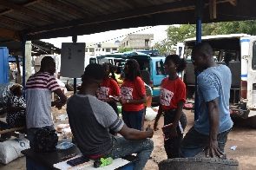
[[[165,56],[149,56],[148,54],[141,52],[124,52],[106,56],[97,56],[97,58],[99,58],[99,62],[104,58],[105,62],[110,62],[118,66],[119,71],[117,74],[121,73],[123,65],[127,60],[135,59],[140,65],[142,80],[152,88],[152,106],[158,106],[160,102],[159,94],[161,81],[167,76],[163,69]]]

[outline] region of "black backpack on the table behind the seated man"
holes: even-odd
[[[39,129],[33,142],[36,152],[49,153],[55,151],[58,142],[56,130],[51,130],[49,127]]]

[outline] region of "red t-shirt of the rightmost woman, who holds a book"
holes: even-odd
[[[168,77],[161,81],[160,102],[162,110],[178,108],[178,101],[186,101],[186,85],[180,78],[168,81]]]

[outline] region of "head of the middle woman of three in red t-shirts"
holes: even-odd
[[[124,65],[125,79],[129,78],[134,81],[137,76],[141,76],[139,63],[135,59],[128,60]]]

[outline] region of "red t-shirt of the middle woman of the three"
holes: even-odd
[[[146,89],[141,77],[137,76],[134,82],[129,79],[125,80],[121,85],[121,99],[141,99],[141,95],[146,95]],[[121,106],[124,111],[140,111],[144,108],[144,104],[126,103]]]

